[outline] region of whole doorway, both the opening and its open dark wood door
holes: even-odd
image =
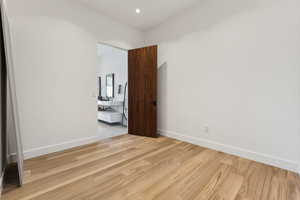
[[[157,137],[157,46],[97,45],[97,121],[102,138]]]

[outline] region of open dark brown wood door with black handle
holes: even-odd
[[[128,133],[157,137],[157,46],[128,51]]]

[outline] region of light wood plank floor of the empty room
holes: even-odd
[[[27,160],[5,200],[299,200],[292,172],[161,137],[124,135]]]

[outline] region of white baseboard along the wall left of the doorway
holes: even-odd
[[[58,151],[63,151],[66,149],[86,145],[86,144],[91,144],[94,142],[97,142],[99,140],[103,139],[102,137],[99,136],[93,136],[93,137],[88,137],[88,138],[81,138],[77,140],[72,140],[69,142],[63,142],[60,144],[55,144],[55,145],[49,145],[49,146],[43,146],[43,147],[38,147],[30,150],[25,150],[24,151],[24,159],[30,159],[42,155],[46,155],[49,153],[54,153]],[[10,154],[10,162],[16,162],[16,154],[12,153]]]

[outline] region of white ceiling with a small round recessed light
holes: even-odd
[[[199,0],[78,0],[102,14],[142,31],[192,7]],[[141,13],[136,14],[135,9]]]

